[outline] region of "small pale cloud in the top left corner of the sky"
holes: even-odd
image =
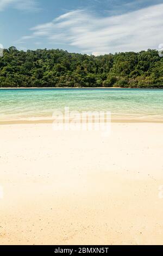
[[[39,10],[35,0],[0,0],[0,11],[9,7],[20,10]]]

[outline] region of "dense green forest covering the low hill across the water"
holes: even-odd
[[[163,88],[163,58],[156,50],[88,56],[63,50],[4,50],[0,87]]]

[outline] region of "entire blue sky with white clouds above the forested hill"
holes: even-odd
[[[0,0],[0,48],[94,54],[158,49],[163,0]]]

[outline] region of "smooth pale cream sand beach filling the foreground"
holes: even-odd
[[[0,125],[1,245],[153,245],[163,237],[163,125]]]

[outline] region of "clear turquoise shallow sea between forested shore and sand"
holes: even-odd
[[[163,89],[1,89],[0,121],[52,119],[54,112],[110,111],[112,120],[163,121]]]

